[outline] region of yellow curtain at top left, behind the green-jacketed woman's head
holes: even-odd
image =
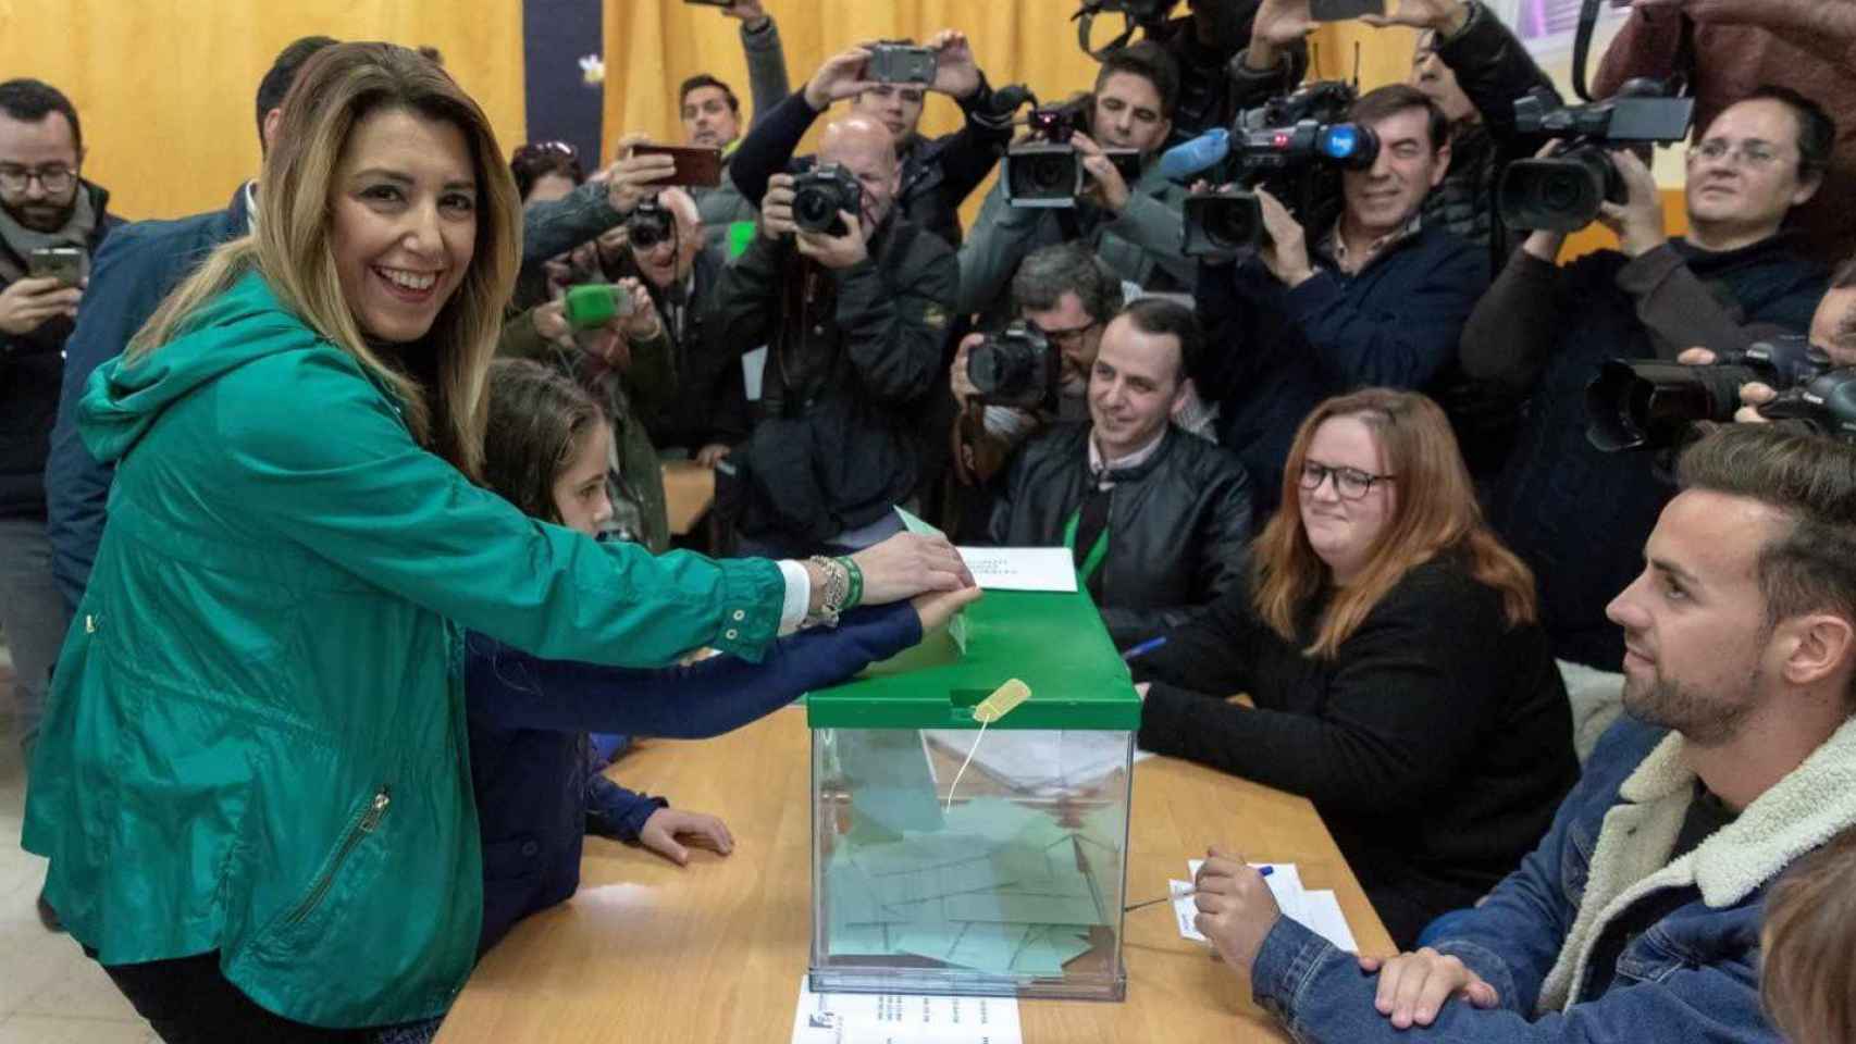
[[[258,80],[312,33],[436,46],[505,159],[522,143],[522,0],[0,0],[0,78],[71,96],[113,211],[180,217],[258,171]]]

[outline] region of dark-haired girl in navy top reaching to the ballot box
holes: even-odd
[[[612,514],[612,427],[594,399],[572,378],[520,360],[492,363],[488,393],[490,490],[540,521],[596,536]],[[915,645],[974,597],[978,588],[854,610],[837,629],[780,640],[759,664],[711,656],[657,671],[601,668],[470,634],[470,764],[484,849],[479,951],[574,894],[585,831],[637,840],[677,864],[689,853],[676,834],[722,855],[733,847],[715,816],[668,808],[588,770],[588,731],[718,736]]]

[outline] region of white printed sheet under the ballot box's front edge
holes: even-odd
[[[800,975],[793,1044],[1025,1044],[1017,998],[815,994]]]

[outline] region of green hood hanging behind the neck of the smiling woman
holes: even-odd
[[[115,464],[176,401],[252,360],[317,343],[264,276],[249,273],[206,302],[180,337],[97,367],[78,402],[78,434],[91,456]]]

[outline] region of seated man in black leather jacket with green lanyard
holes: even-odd
[[[1117,645],[1203,614],[1244,584],[1251,480],[1238,458],[1171,425],[1203,336],[1192,310],[1136,300],[1089,373],[1089,421],[1063,423],[1006,465],[987,538],[1065,545]]]

